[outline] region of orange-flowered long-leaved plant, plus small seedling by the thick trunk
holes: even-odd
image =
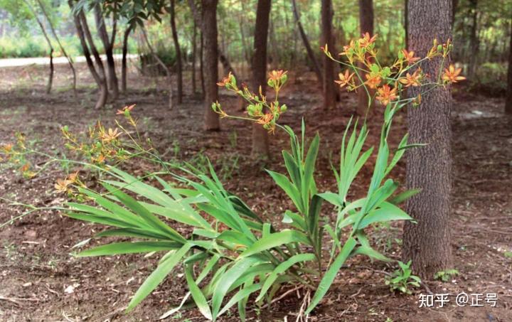
[[[58,181],[55,188],[75,199],[58,209],[70,218],[107,226],[107,230],[95,235],[97,238],[129,237],[133,241],[92,247],[79,252],[78,257],[163,252],[157,267],[132,297],[127,311],[149,296],[176,267],[181,267],[188,292],[181,304],[164,316],[196,306],[205,318],[215,321],[237,306],[243,321],[247,304],[270,306],[285,289],[304,294],[299,316],[307,316],[320,304],[350,257],[361,255],[390,261],[370,245],[366,228],[375,223],[411,220],[398,205],[418,190],[398,193],[399,184],[389,174],[406,149],[420,145],[409,144],[407,134],[398,146],[388,144],[393,117],[409,104],[416,108],[422,95],[463,79],[453,65],[441,69],[439,75],[425,75],[420,68],[425,60],[441,60],[444,65],[450,43],[434,41],[425,58],[402,50],[393,65],[381,66],[374,42],[375,37],[366,34],[346,45],[341,53],[343,60],[336,60],[347,68],[336,81],[341,87],[366,91],[368,108],[373,100],[384,107],[380,140],[375,148],[365,149],[366,122],[352,119],[347,125],[339,163],[333,166],[336,191],[319,190],[316,185],[319,135],[309,140],[304,121],[299,134],[279,124],[280,115],[287,110],[279,102],[279,91],[287,82],[286,72],[270,73],[267,85],[274,91],[272,100],[261,91],[255,94],[247,87],[239,88],[233,75],[219,82],[218,85],[247,101],[246,117],[230,116],[220,103],[214,102],[213,109],[221,116],[246,119],[261,124],[269,132],[284,131],[289,136],[289,150],[282,151],[286,173],[267,170],[290,200],[288,209],[275,209],[276,217],[282,221],[279,225],[276,220],[255,213],[250,200],[246,203],[226,190],[222,181],[229,176],[221,180],[208,160],[192,164],[162,159],[151,140],[139,136],[137,120],[132,117],[134,106],[118,112],[133,129],[119,122],[114,129],[105,129],[98,123],[91,128],[88,141],[80,141],[68,127],[63,128],[68,149],[82,159],[63,160],[42,154],[27,146],[22,136],[16,144],[3,147],[4,155],[21,166],[28,178],[44,168],[30,166],[28,158],[33,154],[47,157],[46,165],[65,162],[97,171],[100,179],[96,186],[87,187],[78,173]],[[329,48],[324,48],[324,52],[334,59]],[[406,87],[422,87],[422,93],[403,97]],[[375,165],[366,195],[351,200],[348,192],[373,155]],[[159,166],[159,171],[134,176],[123,170],[124,161],[134,158]],[[334,216],[325,211],[324,203],[334,206]],[[34,210],[37,208],[29,211]],[[178,225],[186,229],[178,230]],[[417,286],[419,279],[410,275],[408,265],[401,264],[402,271],[390,279],[392,289],[407,292],[408,286]]]

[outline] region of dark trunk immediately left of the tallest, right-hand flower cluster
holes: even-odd
[[[334,15],[332,0],[321,0],[321,45],[327,45],[329,50],[334,49],[332,33],[332,18]],[[333,53],[333,55],[336,53]],[[324,109],[334,108],[336,105],[336,92],[334,90],[334,62],[324,55]]]

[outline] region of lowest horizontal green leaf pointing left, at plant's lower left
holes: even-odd
[[[178,242],[114,242],[112,244],[84,250],[77,254],[77,257],[157,252],[160,250],[178,249],[181,246],[182,244]]]

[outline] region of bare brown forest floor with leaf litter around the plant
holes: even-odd
[[[15,132],[23,132],[38,149],[64,151],[60,127],[86,132],[101,119],[113,124],[117,109],[137,104],[144,135],[157,142],[169,158],[204,164],[208,156],[226,182],[226,188],[244,199],[257,213],[274,222],[288,202],[262,168],[282,170],[280,150],[288,139],[277,132],[271,138],[272,160],[250,159],[250,124],[231,119],[221,121],[220,132],[203,132],[203,104],[191,95],[186,77],[183,104],[169,110],[163,91],[164,78],[143,77],[133,68],[129,74],[129,92],[101,111],[92,109],[95,87],[84,66],[78,68],[78,101],[70,90],[67,66],[56,67],[54,90],[45,93],[46,69],[30,65],[0,69],[0,144],[14,141]],[[189,76],[189,75],[187,75]],[[200,89],[200,85],[198,85]],[[320,190],[334,190],[329,160],[339,154],[341,136],[356,97],[343,94],[337,109],[319,109],[319,95],[309,73],[290,77],[282,94],[289,111],[282,124],[299,128],[306,119],[311,137],[318,131],[321,149],[317,165]],[[434,294],[450,294],[449,303],[439,308],[420,308],[420,294],[390,293],[385,274],[393,264],[370,262],[353,257],[341,269],[326,298],[309,321],[512,321],[512,119],[503,114],[503,100],[457,92],[452,114],[454,192],[451,216],[453,267],[459,275],[450,281],[425,280]],[[236,112],[236,99],[221,92],[220,101],[228,111]],[[233,106],[233,107],[230,107]],[[380,119],[370,119],[368,144],[378,142]],[[391,135],[393,144],[406,129],[405,113],[399,114]],[[142,173],[138,164],[129,165]],[[351,191],[351,198],[361,196],[369,182],[371,168],[364,168]],[[405,163],[392,173],[404,182]],[[0,197],[38,206],[58,205],[64,201],[53,192],[53,183],[62,178],[59,168],[52,168],[31,180],[21,178],[0,165]],[[23,212],[20,207],[0,201],[0,223]],[[101,230],[100,225],[63,217],[57,212],[28,215],[0,229],[0,321],[154,321],[176,306],[186,293],[180,270],[166,279],[132,313],[125,315],[130,296],[156,264],[155,257],[140,255],[75,258],[73,245]],[[380,251],[400,259],[401,226],[373,228],[371,241]],[[496,307],[459,307],[455,296],[497,294]],[[292,293],[270,308],[248,312],[249,321],[295,321],[302,299]],[[250,306],[250,304],[249,304]],[[175,315],[171,321],[203,321],[196,311]],[[236,312],[220,321],[238,321]]]

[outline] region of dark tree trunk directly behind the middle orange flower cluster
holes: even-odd
[[[258,0],[254,51],[252,52],[252,90],[258,92],[260,86],[265,95],[267,87],[267,38],[272,0]],[[270,157],[268,133],[261,124],[252,124],[252,155]]]

